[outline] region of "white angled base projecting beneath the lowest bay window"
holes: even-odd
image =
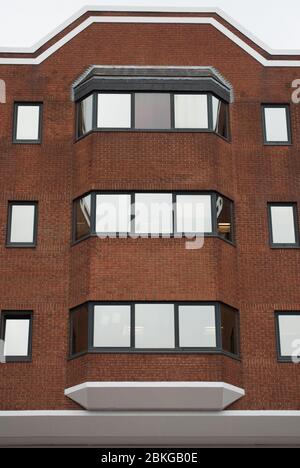
[[[245,391],[224,382],[84,382],[65,395],[90,411],[221,411]]]

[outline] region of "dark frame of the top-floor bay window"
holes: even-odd
[[[120,128],[120,127],[109,127],[109,128],[102,128],[102,127],[97,127],[97,120],[98,120],[98,94],[126,94],[126,95],[131,95],[131,126],[128,128]],[[135,94],[169,94],[170,95],[170,123],[171,126],[170,128],[135,128]],[[84,135],[79,135],[78,131],[78,123],[79,123],[79,104],[81,101],[83,101],[85,98],[88,96],[93,95],[93,118],[92,118],[92,130],[85,133]],[[177,128],[175,127],[175,95],[206,95],[207,96],[207,110],[208,110],[208,127],[207,128]],[[213,129],[213,113],[212,113],[212,96],[215,96],[217,99],[219,99],[221,102],[223,102],[226,105],[226,116],[227,116],[227,127],[228,127],[228,136],[224,137],[221,135],[219,132],[216,132]],[[220,98],[218,95],[216,95],[213,92],[204,92],[204,91],[191,91],[191,92],[184,92],[184,91],[168,91],[165,89],[162,89],[161,91],[110,91],[110,90],[105,90],[105,91],[94,91],[92,93],[89,93],[76,101],[76,141],[81,140],[82,138],[86,137],[90,133],[93,132],[146,132],[146,133],[153,133],[153,132],[171,132],[171,133],[214,133],[215,135],[218,135],[220,138],[223,140],[230,142],[230,120],[229,120],[230,112],[229,112],[229,103],[225,101],[224,99]]]

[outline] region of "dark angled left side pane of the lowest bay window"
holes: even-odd
[[[72,355],[88,349],[88,307],[81,306],[71,313]]]

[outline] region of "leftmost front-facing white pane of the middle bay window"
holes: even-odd
[[[97,195],[96,200],[97,233],[130,232],[130,195]]]

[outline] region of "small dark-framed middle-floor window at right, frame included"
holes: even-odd
[[[270,237],[274,246],[297,246],[297,205],[295,203],[269,203]]]

